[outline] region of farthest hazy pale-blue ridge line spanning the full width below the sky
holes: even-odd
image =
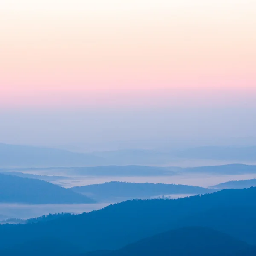
[[[207,146],[172,151],[126,149],[79,153],[57,148],[0,143],[0,167],[166,165],[184,159],[256,162],[256,146]]]

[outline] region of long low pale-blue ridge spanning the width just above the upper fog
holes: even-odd
[[[36,172],[49,175],[61,173],[64,176],[172,176],[187,174],[237,175],[256,173],[256,165],[227,164],[220,166],[201,166],[192,168],[161,166],[81,166],[81,167],[47,167],[47,168],[12,168],[0,169],[0,172]]]

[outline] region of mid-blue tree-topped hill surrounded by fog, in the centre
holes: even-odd
[[[205,194],[215,192],[215,189],[206,189],[198,186],[175,185],[163,183],[129,183],[111,181],[103,184],[76,186],[70,190],[94,198],[97,201],[115,200],[116,198],[149,198],[169,194]]]

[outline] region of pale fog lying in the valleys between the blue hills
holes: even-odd
[[[97,168],[97,167],[96,167]],[[130,167],[131,169],[133,166]],[[71,170],[70,170],[71,169]],[[182,172],[177,171],[172,175],[141,175],[139,176],[111,176],[111,175],[76,175],[76,167],[70,169],[5,169],[6,174],[14,174],[22,176],[32,175],[36,179],[52,180],[51,183],[64,187],[72,188],[77,186],[86,186],[92,184],[102,184],[111,181],[120,181],[128,183],[164,183],[164,184],[183,184],[191,186],[200,186],[208,188],[219,183],[224,183],[230,180],[249,180],[256,178],[255,173],[239,173],[239,174],[216,174],[216,173],[199,173],[199,172]],[[71,173],[71,174],[70,174]],[[42,178],[41,178],[42,177]],[[97,202],[93,204],[24,204],[24,203],[0,203],[0,220],[9,218],[29,219],[54,213],[68,212],[72,214],[80,214],[82,212],[90,212],[93,210],[102,209],[109,204],[126,201],[129,199],[153,199],[153,198],[184,198],[187,196],[196,195],[196,193],[175,193],[175,194],[159,194],[153,196],[116,196],[114,198],[97,198]],[[90,196],[90,194],[89,194]],[[99,201],[100,200],[100,201]]]

